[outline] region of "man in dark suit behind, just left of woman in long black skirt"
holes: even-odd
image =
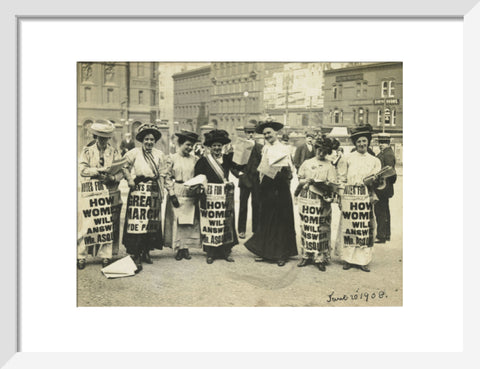
[[[240,187],[240,211],[238,214],[238,237],[245,238],[247,229],[248,198],[252,195],[252,231],[255,233],[258,224],[258,198],[260,180],[258,177],[258,165],[262,159],[262,148],[258,142],[254,141],[256,120],[250,120],[245,126],[244,131],[247,139],[255,142],[250,158],[247,164],[242,167],[242,172],[238,178],[238,187]]]

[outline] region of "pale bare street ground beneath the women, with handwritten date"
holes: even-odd
[[[370,273],[353,268],[345,271],[334,255],[326,272],[313,265],[298,268],[298,257],[284,267],[258,263],[243,246],[245,240],[233,248],[234,263],[215,260],[209,265],[200,249],[190,250],[191,260],[176,261],[173,251],[165,248],[151,252],[153,265],[143,264],[142,272],[127,278],[107,279],[100,271],[101,260],[87,259],[86,268],[78,271],[78,306],[401,306],[402,182],[399,175],[390,200],[392,241],[375,245]],[[125,181],[121,186],[125,213]],[[295,186],[292,183],[292,188]],[[238,188],[236,192],[238,214]],[[296,217],[298,224],[298,214]],[[338,219],[334,205],[332,239]],[[247,229],[247,239],[250,235]],[[125,255],[120,245],[119,257]]]

